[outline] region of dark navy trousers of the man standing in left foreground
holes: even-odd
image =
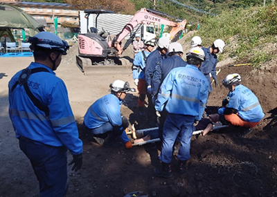
[[[64,196],[67,181],[66,147],[51,147],[22,137],[19,138],[19,147],[35,171],[39,181],[39,196]]]

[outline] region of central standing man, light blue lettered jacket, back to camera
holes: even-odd
[[[170,162],[172,147],[180,136],[181,147],[178,153],[179,172],[184,172],[187,160],[190,158],[190,138],[193,135],[193,125],[201,120],[208,98],[208,81],[198,71],[204,61],[204,51],[191,48],[186,54],[188,65],[174,68],[163,80],[155,102],[157,115],[166,108],[168,116],[163,125],[163,141],[160,160],[162,169],[154,169],[157,177],[172,176]]]

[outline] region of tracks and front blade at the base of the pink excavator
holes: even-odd
[[[102,62],[93,62],[89,58],[84,58],[76,55],[76,64],[78,68],[84,73],[84,75],[95,75],[105,73],[132,73],[132,59],[129,57],[115,57],[112,59],[105,59]]]

